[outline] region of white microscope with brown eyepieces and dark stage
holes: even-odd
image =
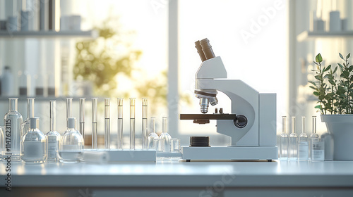
[[[182,146],[182,159],[191,160],[268,160],[278,158],[276,146],[276,94],[261,94],[241,80],[228,80],[220,56],[215,56],[209,40],[195,42],[201,57],[196,72],[195,94],[201,114],[180,114],[180,120],[196,124],[217,121],[217,133],[232,138],[229,146],[210,146],[208,136],[191,136],[190,146]],[[231,113],[208,113],[217,105],[221,91],[231,100]]]

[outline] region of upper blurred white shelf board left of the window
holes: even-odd
[[[0,38],[97,38],[98,33],[95,30],[90,31],[28,31],[28,32],[8,32],[0,31]]]

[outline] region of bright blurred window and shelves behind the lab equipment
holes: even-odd
[[[78,98],[86,98],[89,146],[91,98],[97,97],[103,146],[103,98],[112,98],[112,134],[116,134],[116,98],[124,98],[128,143],[128,98],[133,97],[138,147],[141,98],[147,97],[148,116],[157,117],[157,133],[162,132],[162,116],[167,116],[169,134],[180,138],[182,145],[189,144],[190,135],[209,135],[213,145],[228,144],[227,136],[215,132],[215,122],[194,125],[179,120],[180,113],[200,113],[193,91],[201,60],[194,42],[207,37],[229,79],[277,93],[280,134],[282,115],[319,117],[307,83],[313,78],[312,62],[321,53],[325,64],[335,63],[339,52],[352,50],[352,8],[351,0],[0,0],[0,114],[8,111],[8,97],[15,96],[25,119],[26,98],[35,97],[35,116],[47,133],[49,101],[56,100],[56,129],[62,134],[65,98],[73,97],[77,118]],[[337,30],[328,23],[333,11],[342,23]],[[230,113],[229,98],[222,93],[217,97],[215,107]],[[311,124],[306,127],[311,131]],[[318,133],[324,131],[318,120]],[[116,137],[111,139],[114,148]]]

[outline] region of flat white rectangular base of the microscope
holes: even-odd
[[[181,159],[190,160],[275,160],[277,146],[181,147]]]

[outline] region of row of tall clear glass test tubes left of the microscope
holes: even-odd
[[[136,98],[130,100],[130,149],[135,149],[135,103]],[[72,117],[73,98],[66,98],[66,120]],[[123,103],[124,98],[117,98],[117,146],[123,148]],[[92,149],[98,148],[97,134],[97,106],[98,98],[92,98]],[[79,98],[80,134],[85,139],[85,98]],[[148,148],[148,98],[142,98],[142,148]],[[110,98],[104,98],[104,148],[110,149]]]

